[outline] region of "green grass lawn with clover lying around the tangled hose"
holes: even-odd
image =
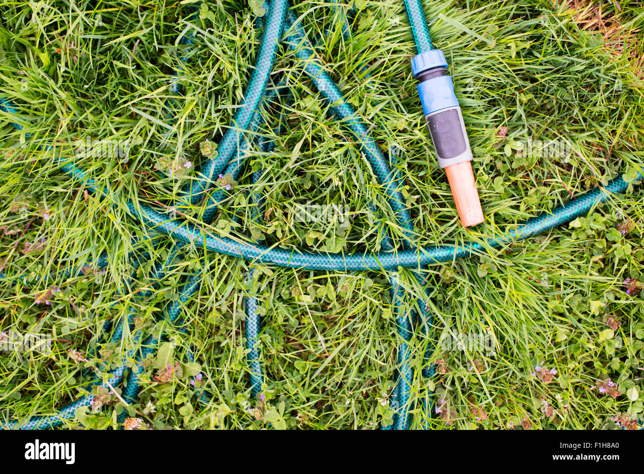
[[[469,230],[455,218],[433,155],[410,74],[415,50],[401,3],[358,3],[351,41],[341,36],[339,15],[329,5],[308,2],[298,5],[298,14],[377,142],[388,153],[399,150],[395,164],[404,175],[417,244],[434,245],[482,240],[641,166],[644,83],[637,59],[644,54],[644,14],[638,4],[425,2],[475,154],[486,223]],[[167,169],[172,160],[196,166],[200,144],[221,137],[243,97],[261,30],[245,4],[207,6],[213,16],[195,22],[195,45],[189,47],[177,43],[188,27],[178,19],[185,5],[175,1],[1,3],[0,88],[17,104],[26,128],[15,131],[11,117],[0,116],[0,262],[5,272],[28,280],[0,281],[0,330],[52,337],[51,354],[1,355],[3,422],[53,413],[91,390],[92,367],[102,362],[126,359],[131,365],[127,352],[138,345],[129,332],[120,343],[99,345],[99,354],[88,351],[104,322],[120,321],[134,306],[136,330],[158,332],[178,283],[201,265],[202,249],[186,248],[152,296],[136,298],[153,280],[153,258],[163,258],[169,247],[166,241],[145,243],[150,230],[130,220],[122,203],[172,200],[194,168],[178,179],[155,168]],[[610,17],[611,28],[620,25],[627,46],[607,44],[601,22],[580,19],[580,8]],[[168,86],[183,54],[191,61],[180,73],[181,96]],[[369,65],[369,77],[359,72],[361,63]],[[286,50],[274,71],[275,81],[277,71],[287,77],[294,104],[283,113],[275,104],[270,128],[258,133],[277,140],[276,148],[249,153],[249,167],[211,231],[248,239],[251,229],[236,227],[232,217],[248,222],[247,193],[261,190],[266,219],[253,230],[265,242],[377,250],[382,232],[370,202],[399,236],[365,160],[341,124],[328,118],[328,106]],[[284,129],[276,136],[278,120]],[[84,193],[53,166],[54,153],[74,153],[84,137],[131,139],[127,158],[78,160],[113,190],[110,200]],[[570,150],[560,158],[524,156],[520,147],[528,139],[564,140]],[[55,148],[39,151],[43,141]],[[260,181],[249,184],[260,167]],[[441,413],[433,427],[600,429],[614,428],[614,417],[641,415],[643,300],[639,289],[627,294],[623,282],[644,279],[643,197],[635,186],[547,235],[480,258],[430,265],[424,273],[435,311],[433,338],[440,339],[434,356],[439,374],[431,384]],[[348,206],[350,225],[297,222],[297,205],[307,202]],[[188,216],[202,211],[195,206]],[[130,275],[133,240],[143,241],[153,258]],[[61,276],[101,252],[109,256],[104,274],[91,269],[82,277]],[[131,415],[153,428],[261,428],[265,418],[277,416],[291,428],[371,429],[390,419],[397,336],[386,274],[257,267],[248,282],[248,269],[246,261],[207,255],[202,287],[185,305],[185,332],[169,329],[171,345],[150,361]],[[59,276],[51,278],[52,272]],[[405,272],[401,280],[413,305],[422,289]],[[52,287],[59,291],[50,305],[36,303]],[[245,369],[248,294],[258,297],[263,314],[263,403],[251,399]],[[490,334],[494,348],[448,347],[448,336],[459,333]],[[425,345],[415,337],[416,367]],[[213,393],[205,408],[197,406],[185,374],[155,380],[166,362],[185,363],[187,348],[195,352],[202,386]],[[193,369],[184,366],[186,373]],[[556,374],[545,375],[546,369]],[[609,377],[621,393],[615,398],[598,390]],[[414,399],[426,384],[415,377]],[[90,428],[114,427],[115,413],[123,409],[108,396],[82,421]],[[413,413],[418,427],[421,415]]]

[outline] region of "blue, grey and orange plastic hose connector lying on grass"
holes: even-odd
[[[439,166],[445,169],[451,194],[465,226],[483,222],[478,191],[474,183],[468,134],[465,130],[454,84],[447,75],[447,61],[440,50],[429,50],[412,59],[412,73],[419,84],[422,111],[430,128]]]

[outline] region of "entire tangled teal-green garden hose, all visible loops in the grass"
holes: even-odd
[[[384,158],[383,153],[375,144],[375,141],[370,135],[365,124],[359,119],[359,116],[343,99],[342,93],[337,88],[336,84],[330,79],[328,74],[323,69],[323,66],[317,61],[314,52],[308,43],[305,33],[301,26],[296,23],[296,17],[292,12],[287,14],[285,0],[273,0],[270,2],[270,10],[265,25],[265,32],[260,46],[260,53],[258,54],[258,64],[252,73],[251,82],[245,94],[245,100],[242,107],[238,109],[231,127],[227,129],[226,133],[218,147],[218,156],[211,160],[205,160],[200,169],[200,173],[194,178],[189,185],[184,187],[182,197],[185,196],[186,202],[189,204],[196,204],[207,196],[207,191],[213,187],[213,177],[218,175],[225,167],[231,170],[231,173],[238,173],[242,166],[242,160],[239,155],[243,151],[243,147],[238,146],[240,143],[240,135],[249,129],[252,129],[252,122],[254,117],[260,116],[258,109],[260,102],[265,96],[268,77],[272,70],[274,57],[279,45],[282,32],[285,32],[284,41],[289,48],[294,51],[298,60],[303,64],[305,72],[312,78],[317,89],[325,96],[331,104],[332,112],[341,120],[343,126],[349,129],[354,136],[355,142],[363,151],[363,155],[368,164],[372,167],[374,175],[379,180],[379,183],[386,193],[388,204],[392,209],[393,214],[397,219],[397,225],[401,229],[401,234],[404,237],[403,248],[395,249],[393,245],[383,245],[385,251],[379,252],[355,252],[352,254],[332,254],[327,252],[312,252],[304,249],[284,249],[274,246],[259,245],[256,243],[247,243],[236,238],[226,236],[216,236],[207,232],[203,227],[197,223],[188,222],[178,218],[169,218],[166,214],[160,213],[152,207],[141,204],[140,202],[128,201],[126,203],[117,202],[113,198],[111,190],[108,188],[99,188],[97,184],[82,170],[75,165],[71,160],[62,158],[59,162],[62,171],[68,173],[75,180],[84,185],[92,192],[102,194],[107,202],[126,210],[126,212],[142,225],[146,225],[153,232],[160,234],[167,234],[180,242],[188,242],[202,247],[209,251],[219,252],[229,256],[244,258],[245,260],[252,261],[253,263],[269,263],[281,267],[291,267],[295,269],[314,269],[314,270],[393,270],[400,271],[401,268],[412,270],[421,270],[422,267],[431,263],[440,261],[451,261],[457,258],[465,258],[468,256],[482,255],[490,249],[499,249],[504,246],[509,246],[516,240],[523,240],[541,232],[549,231],[554,227],[566,222],[574,220],[578,216],[583,216],[589,213],[596,205],[605,202],[611,194],[621,193],[626,191],[630,182],[627,182],[621,175],[610,181],[603,187],[597,187],[592,191],[582,194],[578,198],[571,200],[565,205],[557,207],[551,213],[541,214],[535,218],[531,218],[524,222],[515,229],[511,229],[503,234],[499,234],[495,238],[484,239],[481,242],[462,242],[454,243],[452,245],[435,245],[426,247],[416,247],[413,245],[414,234],[412,218],[409,214],[404,199],[399,190],[399,186],[395,180],[395,173],[392,173],[387,160]],[[431,39],[428,31],[427,22],[422,13],[422,6],[418,0],[405,1],[406,10],[412,26],[412,33],[417,44],[419,54],[431,50]],[[0,109],[8,113],[17,113],[17,110],[7,101],[0,103]],[[16,122],[17,129],[23,129],[23,124]],[[242,140],[243,141],[243,140]],[[234,156],[237,155],[237,156]],[[641,173],[636,177],[636,180],[642,178]],[[210,220],[217,209],[217,202],[223,197],[222,192],[213,193],[208,197],[208,205],[206,207],[206,215],[203,222]],[[256,204],[260,204],[257,202]],[[384,242],[384,241],[383,241]],[[388,241],[387,241],[388,242]],[[202,267],[207,265],[207,255],[202,259]],[[166,262],[167,263],[167,262]],[[164,272],[164,266],[157,270],[159,274]],[[180,321],[180,313],[182,312],[182,305],[189,300],[191,295],[198,289],[201,281],[200,274],[194,274],[189,277],[181,287],[180,296],[176,301],[171,301],[167,308],[167,321],[171,324],[176,324]],[[400,303],[404,290],[401,287],[392,287],[392,294],[396,296],[393,298],[395,308],[401,310]],[[247,299],[247,311],[249,306],[252,310],[252,305],[256,304]],[[422,318],[427,318],[428,315],[424,314]],[[129,318],[128,318],[129,319]],[[412,328],[409,325],[410,318],[408,315],[397,315],[397,325],[399,332],[402,331],[404,336],[411,337],[413,334]],[[424,319],[421,323],[425,323],[426,330],[429,330],[430,324],[428,319]],[[255,341],[256,345],[256,330],[259,328],[258,321],[251,323],[250,334]],[[249,334],[249,326],[247,322],[247,334]],[[120,334],[118,334],[120,336]],[[159,337],[148,337],[142,344],[138,354],[129,354],[129,357],[136,357],[138,363],[142,361],[142,357],[147,354],[152,354],[156,350],[160,339]],[[407,339],[407,337],[403,337]],[[252,345],[251,345],[252,352]],[[397,401],[401,403],[402,409],[397,413],[394,424],[395,428],[407,428],[410,424],[410,415],[408,414],[409,406],[409,391],[412,383],[412,368],[410,365],[412,354],[411,348],[406,341],[401,341],[398,350],[399,361],[399,383],[397,384],[396,397]],[[258,355],[252,354],[249,357],[249,366],[251,369],[251,388],[254,393],[258,392],[258,386],[261,386],[261,367],[258,362]],[[99,379],[95,386],[113,387],[119,385],[124,377],[126,367],[119,366],[115,370],[111,370],[104,374],[102,379]],[[135,400],[137,397],[138,381],[135,372],[130,371],[128,375],[128,384],[123,392],[125,397],[130,400]],[[431,370],[428,369],[427,374],[431,375]],[[130,383],[130,381],[132,383]],[[401,382],[402,381],[402,382]],[[91,403],[94,396],[90,393],[84,395],[66,405],[57,414],[50,416],[32,417],[26,422],[10,421],[9,428],[48,428],[50,426],[60,426],[64,423],[64,419],[73,419],[75,410],[81,406],[87,406]],[[430,416],[428,408],[424,408],[424,415]]]

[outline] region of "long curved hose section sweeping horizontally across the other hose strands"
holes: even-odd
[[[77,166],[66,164],[63,171],[84,185],[87,189],[99,192],[107,200],[112,200],[108,189],[99,191],[95,182],[86,176]],[[284,249],[274,246],[246,243],[230,237],[220,237],[205,233],[202,227],[178,218],[167,218],[151,207],[133,202],[126,202],[129,216],[137,222],[149,225],[157,232],[167,234],[184,242],[194,243],[209,251],[218,252],[232,257],[243,258],[253,263],[269,263],[278,267],[308,270],[396,270],[403,268],[419,268],[423,265],[456,260],[468,256],[484,255],[489,249],[500,249],[509,246],[516,240],[534,237],[542,232],[550,231],[577,217],[587,214],[596,205],[606,202],[611,194],[623,193],[629,184],[642,179],[642,174],[632,181],[626,181],[623,175],[609,181],[605,186],[598,185],[595,189],[560,205],[549,213],[542,213],[530,218],[524,223],[518,223],[511,229],[494,238],[482,242],[462,242],[446,245],[428,245],[417,249],[404,249],[393,252],[354,252],[328,253],[312,252],[304,249]]]

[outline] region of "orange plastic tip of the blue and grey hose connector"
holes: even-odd
[[[483,222],[483,210],[474,185],[474,172],[469,161],[446,166],[445,172],[450,182],[451,194],[454,196],[456,210],[464,227]]]

